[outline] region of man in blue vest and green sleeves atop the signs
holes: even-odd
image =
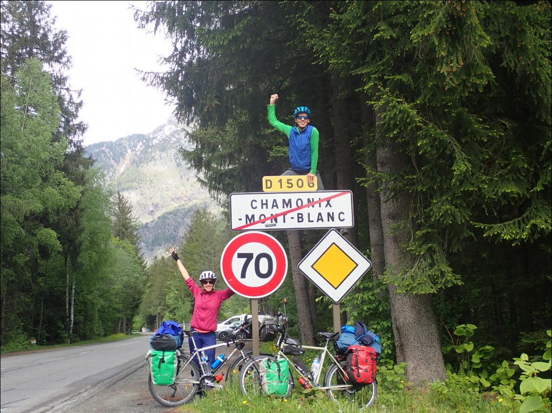
[[[295,126],[289,126],[279,122],[276,118],[275,103],[278,95],[270,96],[268,105],[268,122],[270,126],[285,134],[289,139],[289,163],[290,168],[282,175],[306,175],[307,183],[312,183],[316,175],[318,191],[323,191],[324,186],[317,171],[318,164],[318,143],[320,134],[318,129],[311,126],[311,111],[306,106],[299,106],[295,109]]]

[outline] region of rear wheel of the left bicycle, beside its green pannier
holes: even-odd
[[[150,393],[158,403],[172,407],[188,403],[199,390],[199,371],[189,358],[178,356],[178,374],[171,385],[156,385],[151,379],[151,372],[147,379]]]

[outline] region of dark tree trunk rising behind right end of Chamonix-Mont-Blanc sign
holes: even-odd
[[[331,77],[332,105],[333,105],[333,137],[336,144],[336,168],[337,168],[337,189],[340,191],[349,190],[353,192],[353,162],[354,156],[351,150],[350,131],[351,119],[348,116],[347,102],[341,96],[341,79],[337,75]],[[356,203],[353,200],[353,205]],[[353,215],[356,215],[353,213]],[[355,222],[358,220],[355,219]],[[355,225],[348,229],[347,239],[358,247],[358,227]]]

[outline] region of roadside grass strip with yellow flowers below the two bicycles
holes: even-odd
[[[301,389],[302,390],[302,389]],[[297,388],[289,399],[255,395],[246,398],[240,393],[237,382],[231,382],[220,390],[210,390],[201,398],[194,398],[187,405],[174,410],[183,413],[353,413],[358,409],[351,405],[337,406],[326,394],[308,396]],[[512,413],[515,410],[503,406],[495,398],[459,390],[443,394],[431,389],[397,390],[378,393],[370,413]]]

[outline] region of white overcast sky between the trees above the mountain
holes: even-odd
[[[48,1],[56,29],[66,30],[68,71],[73,89],[82,89],[80,118],[88,123],[84,145],[149,133],[172,114],[164,95],[147,86],[134,68],[158,70],[158,56],[168,55],[163,36],[137,29],[130,4],[145,1]]]

